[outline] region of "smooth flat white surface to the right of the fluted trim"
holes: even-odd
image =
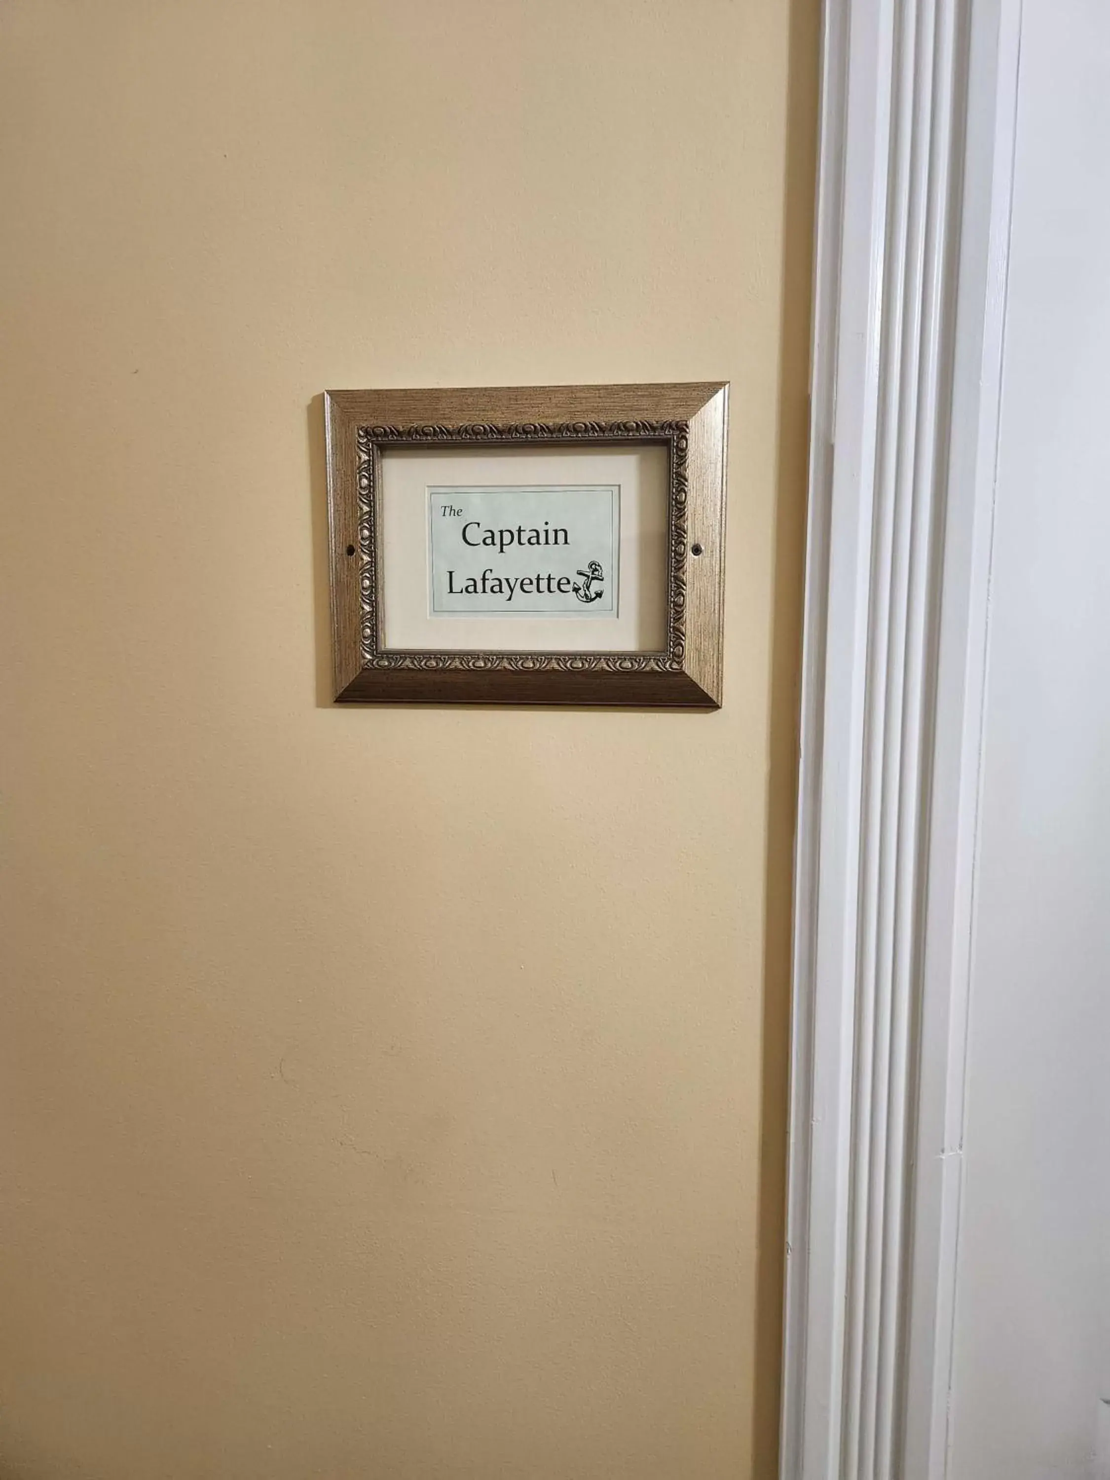
[[[1109,83],[1024,0],[952,1480],[1110,1477]]]

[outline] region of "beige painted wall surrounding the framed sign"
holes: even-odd
[[[815,12],[0,9],[3,1480],[770,1480]],[[712,376],[721,713],[324,702],[324,386]]]

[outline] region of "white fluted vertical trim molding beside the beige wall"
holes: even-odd
[[[943,1480],[1020,0],[826,0],[781,1480]]]

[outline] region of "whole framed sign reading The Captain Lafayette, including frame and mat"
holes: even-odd
[[[329,391],[340,703],[721,703],[728,386]]]

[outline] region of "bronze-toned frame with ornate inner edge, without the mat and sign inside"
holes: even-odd
[[[728,386],[329,391],[327,493],[339,703],[721,704]],[[382,647],[382,451],[394,447],[663,443],[669,454],[666,641],[657,653]]]

